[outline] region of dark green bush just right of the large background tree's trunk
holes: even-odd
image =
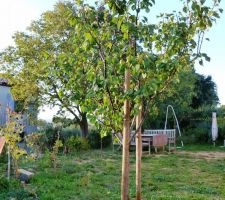
[[[88,142],[92,149],[99,149],[101,148],[101,136],[100,131],[98,130],[91,130],[88,135]],[[112,136],[107,135],[102,138],[102,147],[108,147],[112,144]]]

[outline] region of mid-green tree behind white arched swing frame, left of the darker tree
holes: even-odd
[[[184,127],[184,123],[190,120],[189,115],[193,111],[192,99],[196,95],[194,90],[197,75],[190,66],[186,68],[178,73],[177,79],[171,82],[163,95],[157,96],[152,102],[151,111],[146,115],[144,121],[146,129],[162,129],[164,127],[168,105],[172,105],[175,109],[181,127]],[[170,114],[168,117],[169,122],[174,122],[173,115]]]

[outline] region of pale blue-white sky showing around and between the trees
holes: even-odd
[[[91,2],[91,0],[89,0]],[[40,18],[44,11],[52,10],[58,0],[0,0],[0,51],[13,44],[12,36],[16,31],[26,31],[33,20]],[[93,1],[92,1],[93,2]],[[149,14],[155,16],[160,12],[179,9],[180,0],[156,0],[156,5]],[[217,85],[220,103],[225,105],[225,1],[221,7],[224,13],[214,27],[206,34],[210,42],[205,41],[202,51],[210,57],[204,66],[196,65],[198,73],[212,76]],[[148,16],[151,21],[151,16]],[[39,118],[50,121],[57,108],[44,106]]]

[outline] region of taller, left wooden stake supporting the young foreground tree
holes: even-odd
[[[130,88],[130,70],[125,71],[125,92]],[[130,147],[130,102],[124,101],[123,122],[123,156],[122,156],[122,180],[121,200],[129,199],[129,147]]]

